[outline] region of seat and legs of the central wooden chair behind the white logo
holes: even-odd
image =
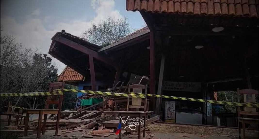
[[[112,111],[110,111],[110,112],[112,112]],[[126,116],[126,117],[129,116],[130,118],[136,118],[136,117],[141,118],[141,117],[143,117],[143,119],[144,119],[143,137],[145,137],[146,114],[147,114],[146,112],[143,112],[143,111],[114,111],[114,114],[118,114],[120,117],[123,117],[123,116]],[[126,121],[126,123],[127,123],[127,121]],[[123,127],[121,127],[121,130],[123,130]],[[138,125],[138,138],[139,139],[141,138],[141,126],[140,125]],[[121,131],[119,133],[119,139],[121,139]]]

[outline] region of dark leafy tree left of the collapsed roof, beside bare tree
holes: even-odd
[[[33,62],[25,66],[25,75],[28,79],[24,83],[26,92],[48,91],[49,83],[57,81],[57,69],[51,64],[52,59],[46,54],[35,54]],[[25,78],[25,76],[23,78]],[[24,89],[25,90],[25,89]],[[22,97],[23,101],[30,107],[36,109],[45,105],[45,96]]]

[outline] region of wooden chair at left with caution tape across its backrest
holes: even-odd
[[[49,84],[49,91],[53,91],[54,89],[61,89],[64,88],[64,82],[54,82]],[[27,136],[28,130],[36,130],[37,131],[37,138],[40,137],[40,133],[42,131],[42,135],[45,134],[46,130],[53,130],[53,128],[46,128],[47,123],[47,115],[48,114],[57,114],[56,118],[56,132],[55,136],[58,135],[59,130],[59,119],[60,119],[60,113],[61,113],[61,106],[63,101],[63,95],[59,95],[59,100],[57,100],[57,95],[47,96],[45,109],[26,109],[26,117],[25,117],[25,127],[24,127],[24,136]],[[49,109],[49,105],[54,104],[57,105],[57,109]],[[29,118],[30,114],[39,114],[38,119],[38,127],[37,128],[28,128]],[[44,114],[44,120],[43,120],[43,126],[42,124],[42,115]]]

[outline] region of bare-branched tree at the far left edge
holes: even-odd
[[[29,61],[31,49],[23,47],[21,43],[16,43],[12,35],[3,34],[3,31],[4,28],[1,26],[1,93],[23,92],[23,83],[20,83],[18,75],[22,72],[23,63]],[[15,99],[1,97],[1,106],[9,100]]]

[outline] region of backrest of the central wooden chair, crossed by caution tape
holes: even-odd
[[[132,91],[131,91],[132,89]],[[145,94],[147,94],[147,85],[142,84],[132,84],[128,86],[128,92],[142,93],[142,89],[145,89]],[[129,109],[135,109],[139,111],[139,109],[144,109],[144,112],[147,111],[147,98],[144,99],[144,106],[142,105],[142,98],[132,98],[132,104],[130,105],[130,97],[127,100],[127,111]]]

